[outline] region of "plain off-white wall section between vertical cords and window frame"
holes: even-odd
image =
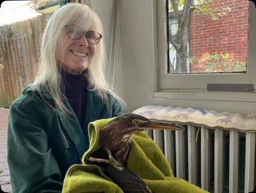
[[[120,45],[123,96],[127,111],[151,104],[155,80],[157,35],[153,17],[155,0],[120,0]]]

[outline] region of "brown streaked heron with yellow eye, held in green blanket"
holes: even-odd
[[[124,193],[153,193],[136,173],[126,167],[132,134],[152,129],[184,130],[181,126],[168,122],[150,120],[135,113],[124,113],[112,119],[99,131],[99,143],[107,152],[108,159],[90,157],[89,161],[101,163],[105,174]]]

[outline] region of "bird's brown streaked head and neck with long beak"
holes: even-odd
[[[134,113],[126,113],[117,116],[102,128],[99,133],[99,143],[111,150],[117,161],[126,165],[126,158],[130,152],[131,135],[136,131],[153,129],[183,130],[174,124],[153,121]]]

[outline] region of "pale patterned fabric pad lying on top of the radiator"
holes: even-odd
[[[147,105],[133,113],[148,119],[175,122],[181,125],[192,124],[209,128],[234,129],[256,132],[256,114],[218,112],[215,110]]]

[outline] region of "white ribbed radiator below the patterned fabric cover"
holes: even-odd
[[[210,192],[254,190],[255,133],[185,125],[184,131],[147,131],[174,175]]]

